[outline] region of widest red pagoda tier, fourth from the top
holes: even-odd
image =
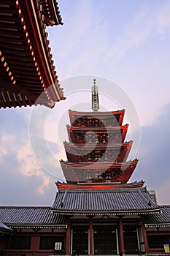
[[[61,167],[66,181],[120,182],[127,183],[138,163],[138,159],[128,162],[64,162]]]

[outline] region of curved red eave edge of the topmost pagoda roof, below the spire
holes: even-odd
[[[108,112],[80,112],[80,111],[74,111],[74,110],[69,110],[69,118],[70,118],[70,122],[71,124],[74,123],[74,121],[77,119],[77,118],[80,118],[80,117],[83,117],[83,116],[95,116],[95,117],[98,117],[98,118],[101,118],[102,116],[103,117],[107,117],[107,116],[112,116],[112,115],[120,115],[119,117],[119,125],[122,124],[123,122],[123,117],[125,115],[125,110],[117,110],[117,111],[108,111]]]

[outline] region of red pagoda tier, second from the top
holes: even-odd
[[[72,143],[123,143],[128,124],[120,127],[72,127],[67,125],[69,141]]]

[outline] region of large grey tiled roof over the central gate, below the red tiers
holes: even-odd
[[[161,206],[152,201],[146,187],[123,189],[66,189],[56,193],[52,211],[63,215],[155,214]]]

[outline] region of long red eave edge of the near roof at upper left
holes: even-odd
[[[18,1],[17,7],[20,10],[21,20],[23,18],[23,26],[26,26],[28,31],[37,66],[44,80],[45,91],[53,101],[61,100],[57,78],[53,73],[50,48],[47,46],[47,33],[45,33],[45,26],[42,22],[42,14],[35,7],[34,0]]]

